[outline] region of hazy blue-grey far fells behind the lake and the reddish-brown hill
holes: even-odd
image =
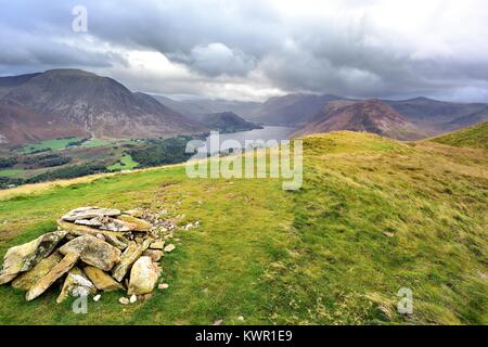
[[[170,108],[197,118],[207,113],[231,111],[255,124],[303,128],[316,120],[330,102],[358,101],[333,94],[295,93],[274,97],[264,103],[223,100],[174,101],[156,97]],[[390,105],[404,121],[420,131],[419,136],[438,134],[488,120],[488,104],[454,103],[415,98],[409,100],[381,100]]]

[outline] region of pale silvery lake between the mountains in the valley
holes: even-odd
[[[293,133],[294,130],[295,128],[290,127],[264,127],[264,129],[255,129],[249,131],[219,133],[219,145],[211,145],[210,137],[208,137],[206,139],[206,147],[211,147],[210,153],[218,152],[216,147],[220,149],[220,151],[236,147],[237,143],[242,149],[244,149],[246,141],[264,141],[266,143],[269,140],[287,140],[290,134]],[[205,151],[204,147],[202,147],[201,150]]]

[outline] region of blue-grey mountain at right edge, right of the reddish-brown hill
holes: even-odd
[[[418,127],[437,133],[488,119],[488,105],[483,103],[454,103],[427,98],[383,102],[391,105],[403,118]]]

